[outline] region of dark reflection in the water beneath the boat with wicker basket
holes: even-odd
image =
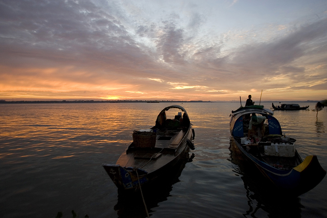
[[[151,216],[151,212],[155,212],[155,208],[159,207],[159,203],[166,201],[170,196],[173,185],[179,182],[179,177],[187,162],[192,162],[194,154],[189,156],[185,154],[183,161],[179,163],[172,171],[162,175],[160,179],[151,186],[142,188],[142,193],[147,206],[147,210]],[[125,217],[147,217],[145,206],[140,192],[129,193],[118,190],[118,202],[114,206],[119,218]]]

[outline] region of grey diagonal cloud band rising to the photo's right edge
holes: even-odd
[[[327,19],[303,26],[286,37],[273,42],[248,44],[235,52],[232,63],[237,66],[255,66],[260,70],[269,68],[277,70],[280,66],[290,64],[295,59],[301,58],[311,43],[319,39],[326,39]]]

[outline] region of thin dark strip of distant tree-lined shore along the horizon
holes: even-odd
[[[159,101],[159,103],[168,102],[212,102],[212,101]],[[6,101],[0,100],[0,104],[74,104],[74,103],[157,103],[142,100],[107,100],[107,101],[94,101],[94,100],[75,100],[75,101]]]

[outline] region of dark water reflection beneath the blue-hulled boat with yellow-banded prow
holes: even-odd
[[[301,199],[280,192],[273,186],[254,164],[242,156],[236,145],[231,142],[229,160],[235,164],[233,172],[241,176],[248,198],[249,210],[244,217],[301,217]]]

